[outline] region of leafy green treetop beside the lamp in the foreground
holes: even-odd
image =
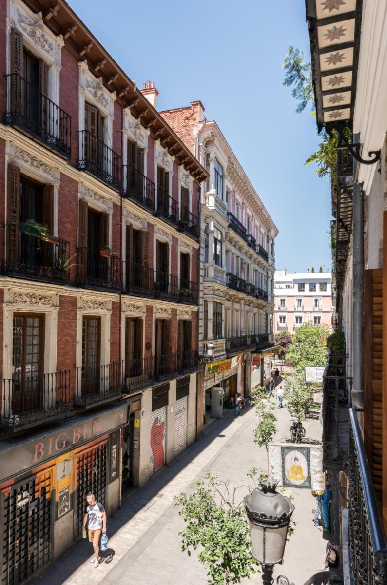
[[[198,559],[208,570],[210,585],[240,583],[258,573],[243,500],[235,503],[237,489],[230,498],[228,483],[210,473],[194,488],[190,495],[175,497],[186,524],[179,532],[182,550],[191,555],[192,549],[200,549]]]

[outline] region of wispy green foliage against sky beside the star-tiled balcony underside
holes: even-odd
[[[292,96],[299,102],[296,112],[302,112],[310,102],[314,107],[312,67],[310,67],[310,61],[305,63],[303,51],[298,47],[289,47],[288,54],[282,62],[282,69],[285,71],[282,85],[294,86]]]

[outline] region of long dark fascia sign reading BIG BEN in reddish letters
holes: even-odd
[[[0,479],[12,477],[29,467],[54,459],[127,423],[129,404],[112,408],[94,418],[63,425],[59,431],[20,442],[0,451]],[[5,445],[4,445],[5,446]]]

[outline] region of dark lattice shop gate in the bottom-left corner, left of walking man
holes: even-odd
[[[51,470],[4,495],[2,585],[19,585],[51,560]]]

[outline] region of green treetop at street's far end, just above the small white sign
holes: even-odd
[[[286,354],[293,369],[302,372],[305,366],[324,366],[327,360],[325,350],[327,328],[307,323],[293,335],[292,345]]]

